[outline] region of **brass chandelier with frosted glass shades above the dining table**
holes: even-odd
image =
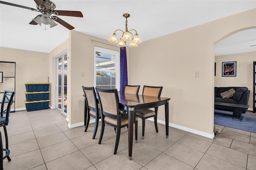
[[[127,23],[128,23],[127,18],[130,17],[130,14],[124,14],[123,17],[126,18],[126,22],[125,22],[125,32],[120,30],[123,32],[122,38],[120,38],[119,41],[117,40],[116,31],[118,31],[118,30],[116,30],[108,41],[111,43],[117,43],[117,45],[120,47],[125,47],[126,42],[130,42],[129,47],[138,47],[138,44],[141,43],[141,40],[140,40],[140,37],[138,36],[136,30],[128,31],[128,28],[127,28]],[[134,36],[130,31],[135,31]],[[131,38],[130,34],[132,35],[132,38]]]

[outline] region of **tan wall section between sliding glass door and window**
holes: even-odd
[[[92,42],[95,40],[98,42]],[[106,45],[103,43],[108,43]],[[92,87],[94,86],[94,46],[120,51],[118,46],[111,46],[108,40],[89,36],[80,32],[70,32],[70,61],[68,61],[68,74],[70,76],[70,83],[68,89],[70,90],[70,107],[69,123],[75,124],[83,122],[84,120],[84,97],[82,85]],[[69,72],[70,71],[70,72]],[[84,77],[81,77],[81,72],[84,72]],[[69,93],[68,93],[69,94]]]

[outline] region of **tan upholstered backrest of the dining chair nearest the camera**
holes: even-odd
[[[102,115],[117,118],[120,114],[117,89],[100,89],[96,87]]]

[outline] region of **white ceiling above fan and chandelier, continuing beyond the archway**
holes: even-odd
[[[4,0],[36,9],[34,0]],[[135,29],[142,42],[173,32],[191,28],[206,22],[256,8],[255,0],[52,0],[55,10],[81,11],[83,18],[59,16],[75,27],[75,31],[108,40],[116,29],[125,29],[124,13],[129,13],[128,30]],[[54,28],[28,24],[39,12],[0,4],[0,46],[49,53],[69,37],[69,30],[58,24]],[[234,36],[249,35],[250,45],[256,44],[255,29]],[[117,32],[120,37],[120,32]],[[230,36],[229,38],[232,38]],[[216,54],[226,52],[234,39],[216,44]],[[249,40],[243,41],[249,41]],[[244,47],[242,47],[243,49]],[[256,46],[252,47],[256,51]]]

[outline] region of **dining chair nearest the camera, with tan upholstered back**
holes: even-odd
[[[119,108],[119,97],[117,89],[99,89],[96,87],[98,93],[98,99],[100,103],[100,110],[102,113],[101,119],[101,131],[99,144],[102,141],[104,134],[105,124],[117,129],[116,133],[116,144],[114,154],[117,152],[121,128],[128,126],[128,114],[121,114]],[[138,118],[135,118],[135,142],[137,143],[138,138]]]

